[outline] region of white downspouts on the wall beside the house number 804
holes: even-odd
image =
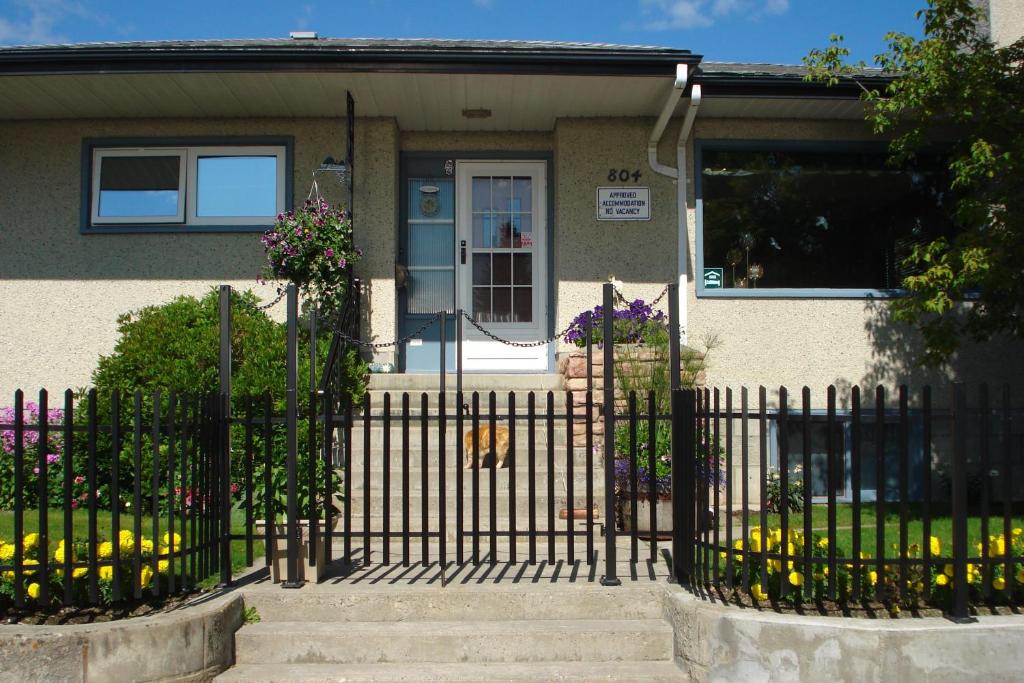
[[[682,328],[681,341],[683,344],[686,343],[688,336],[686,319],[688,291],[686,275],[688,272],[689,221],[687,220],[688,214],[686,211],[686,141],[693,131],[693,121],[696,119],[697,109],[700,106],[701,92],[699,85],[694,84],[690,89],[689,105],[686,109],[686,115],[683,117],[683,123],[679,127],[679,136],[676,139],[676,168],[665,166],[657,161],[657,144],[662,140],[662,135],[665,134],[665,129],[676,110],[677,102],[682,97],[683,90],[686,88],[686,65],[678,65],[676,67],[676,82],[672,86],[672,93],[669,95],[662,114],[657,117],[654,129],[647,140],[647,163],[650,165],[651,170],[670,178],[676,178],[676,215],[679,217],[679,227],[676,234],[676,243],[678,245],[679,325]]]

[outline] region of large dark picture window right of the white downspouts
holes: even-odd
[[[951,230],[941,167],[892,167],[884,147],[709,142],[699,159],[701,294],[897,290],[913,246]]]

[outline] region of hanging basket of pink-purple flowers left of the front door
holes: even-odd
[[[278,214],[260,242],[266,251],[266,280],[293,283],[302,294],[322,302],[341,297],[348,283],[347,267],[362,256],[352,242],[351,215],[319,198]]]

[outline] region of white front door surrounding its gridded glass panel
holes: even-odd
[[[548,326],[548,184],[545,161],[458,161],[456,162],[456,302],[472,315],[473,303],[473,213],[474,176],[529,176],[532,178],[532,299],[531,323],[481,323],[480,326],[504,339],[544,339]],[[466,241],[466,263],[461,260]],[[488,339],[472,325],[464,325],[463,367],[475,372],[546,372],[549,349],[508,346]]]

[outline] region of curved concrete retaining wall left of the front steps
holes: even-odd
[[[229,667],[238,593],[153,616],[76,626],[0,626],[0,682],[207,681]]]

